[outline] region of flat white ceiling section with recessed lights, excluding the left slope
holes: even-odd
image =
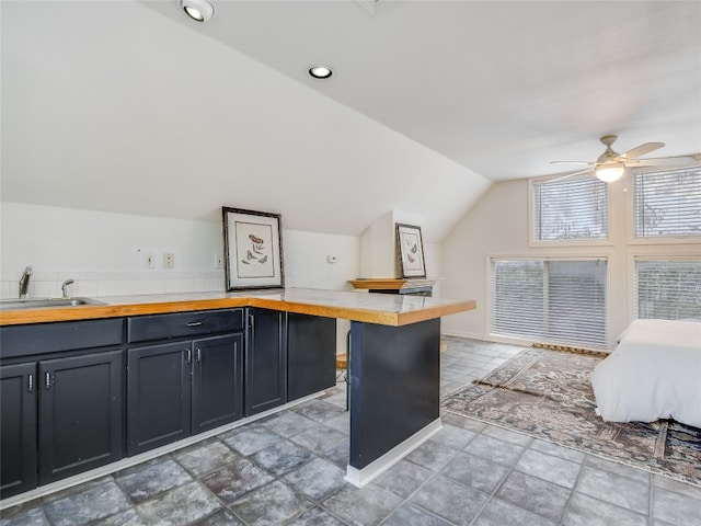
[[[493,181],[594,160],[607,134],[701,151],[699,1],[212,1],[207,24],[143,3]]]

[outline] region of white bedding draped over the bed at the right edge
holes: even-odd
[[[701,322],[634,320],[591,371],[591,387],[605,421],[701,427]]]

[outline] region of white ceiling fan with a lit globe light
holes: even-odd
[[[567,163],[567,164],[587,164],[589,168],[575,173],[568,173],[562,178],[553,181],[560,181],[575,175],[582,175],[583,173],[593,172],[599,180],[606,183],[612,183],[618,181],[627,168],[637,167],[679,167],[687,165],[687,162],[693,163],[693,161],[701,160],[701,153],[690,156],[675,156],[675,157],[656,157],[651,159],[640,159],[640,157],[650,153],[651,151],[658,150],[665,146],[664,142],[645,142],[644,145],[636,146],[632,150],[628,150],[623,153],[613,151],[611,145],[616,142],[618,135],[605,135],[599,140],[606,150],[594,162],[587,161],[551,161],[551,163]],[[685,162],[687,161],[687,162]]]

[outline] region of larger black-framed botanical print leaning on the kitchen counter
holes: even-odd
[[[284,287],[281,216],[227,206],[221,216],[227,291]]]

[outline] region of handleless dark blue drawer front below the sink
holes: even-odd
[[[2,358],[120,345],[124,318],[0,328]]]

